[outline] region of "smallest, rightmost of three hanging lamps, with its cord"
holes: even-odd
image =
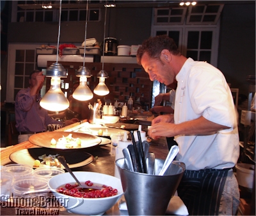
[[[107,6],[105,5],[102,70],[99,71],[99,73],[97,74],[97,78],[99,78],[99,84],[93,90],[93,92],[99,96],[105,96],[105,95],[109,94],[109,89],[105,84],[105,79],[108,78],[108,73],[106,71],[104,71],[104,47],[105,47],[105,34],[106,34],[106,17],[107,17]]]

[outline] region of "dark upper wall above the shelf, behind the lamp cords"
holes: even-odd
[[[143,14],[143,16],[141,16]],[[121,45],[139,45],[150,36],[152,8],[109,8],[106,38],[116,38]],[[100,22],[88,22],[86,38],[104,38],[105,10]],[[60,43],[83,43],[84,22],[61,22]],[[8,42],[57,43],[58,22],[9,23]]]

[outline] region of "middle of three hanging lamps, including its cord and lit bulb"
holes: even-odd
[[[86,48],[86,32],[87,32],[87,20],[88,20],[88,0],[86,4],[86,19],[85,19],[85,32],[84,32],[84,61],[85,61],[85,48]],[[80,66],[80,68],[76,71],[76,76],[79,77],[79,86],[74,90],[72,96],[74,99],[79,101],[88,101],[92,99],[93,93],[87,85],[87,78],[91,77],[90,69],[84,66]]]

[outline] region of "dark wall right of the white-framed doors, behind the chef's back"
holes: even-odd
[[[246,76],[255,75],[255,2],[224,6],[219,46],[218,68],[231,88],[247,96]]]

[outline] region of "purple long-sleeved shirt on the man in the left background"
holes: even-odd
[[[49,117],[47,110],[39,104],[40,94],[31,96],[30,88],[22,89],[15,99],[15,120],[17,131],[47,131],[48,124],[63,124]]]

